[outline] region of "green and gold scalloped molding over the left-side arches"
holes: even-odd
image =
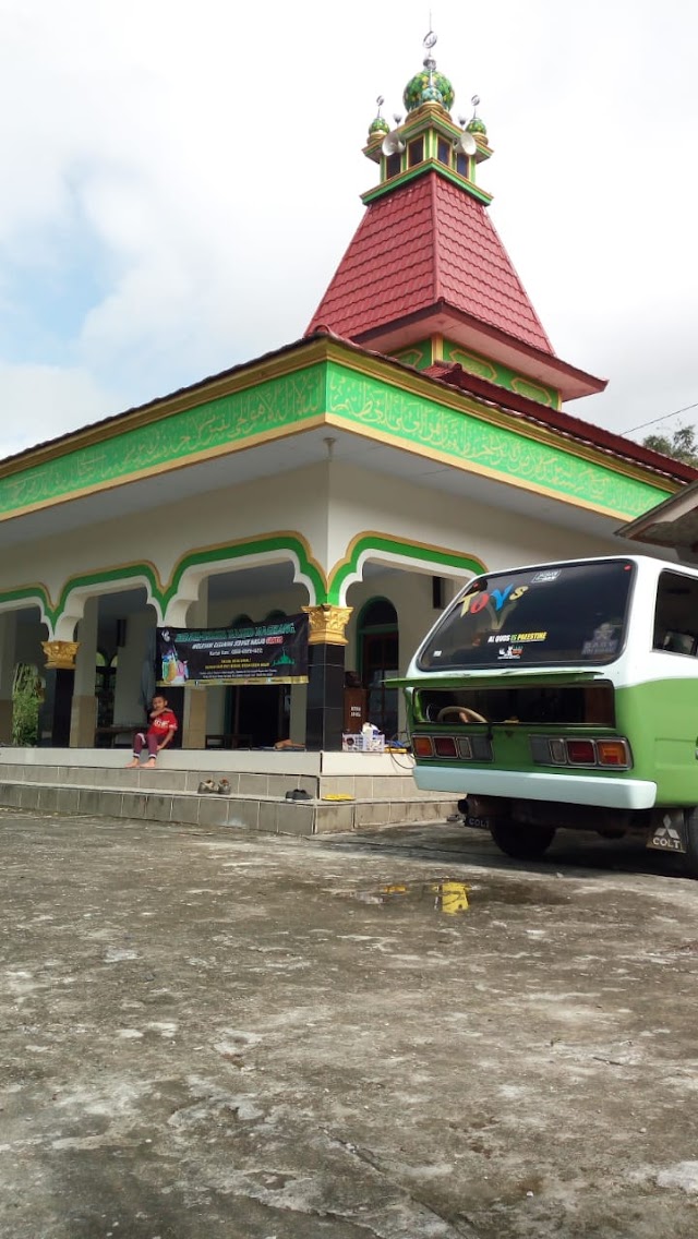
[[[43,585],[29,585],[22,589],[0,592],[0,605],[21,603],[25,601],[27,605],[35,603],[42,607],[46,620],[55,628],[61,616],[67,611],[69,596],[74,590],[94,590],[100,585],[114,585],[119,581],[128,581],[133,582],[134,586],[145,585],[150,591],[151,600],[159,605],[161,615],[165,615],[169,602],[176,597],[183,574],[190,567],[205,567],[207,564],[219,564],[222,560],[244,560],[252,555],[278,551],[288,551],[295,556],[301,574],[310,582],[311,591],[315,591],[315,598],[311,597],[310,600],[311,603],[326,602],[327,586],[325,574],[312,558],[305,539],[300,534],[279,533],[190,551],[179,560],[171,581],[166,586],[160,581],[157,569],[154,564],[148,561],[121,564],[119,567],[71,576],[61,590],[56,605],[52,603],[48,590]]]

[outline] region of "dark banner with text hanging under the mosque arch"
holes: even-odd
[[[239,628],[157,628],[156,678],[176,684],[305,684],[307,616]]]

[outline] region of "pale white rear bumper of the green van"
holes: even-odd
[[[512,800],[549,800],[606,809],[652,809],[657,784],[648,779],[599,778],[595,774],[544,774],[469,766],[415,766],[414,779],[424,792],[457,795],[501,795]]]

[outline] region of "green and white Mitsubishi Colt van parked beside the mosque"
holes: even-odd
[[[642,836],[698,876],[698,570],[642,555],[476,576],[399,681],[414,777],[534,859]]]

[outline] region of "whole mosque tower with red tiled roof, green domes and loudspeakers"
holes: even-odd
[[[403,92],[407,114],[393,129],[377,99],[363,154],[381,180],[362,195],[366,214],[307,331],[330,327],[440,378],[470,375],[490,398],[506,389],[558,408],[601,390],[555,357],[495,230],[491,197],[475,180],[492,154],[480,98],[471,97],[470,120],[454,120],[435,45],[430,24],[422,68]]]

